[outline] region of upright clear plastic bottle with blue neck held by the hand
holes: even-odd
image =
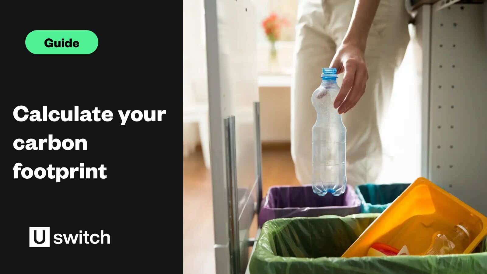
[[[341,115],[333,107],[338,95],[337,69],[323,68],[321,85],[311,97],[316,109],[316,123],[312,129],[313,192],[324,196],[328,192],[339,196],[345,192],[345,149],[347,130]]]

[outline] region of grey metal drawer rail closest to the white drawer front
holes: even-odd
[[[237,157],[235,116],[225,118],[226,190],[228,198],[228,248],[230,274],[240,273],[239,203],[237,185]]]

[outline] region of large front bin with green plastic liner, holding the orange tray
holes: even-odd
[[[378,215],[269,220],[250,259],[250,274],[487,273],[486,239],[476,249],[480,253],[341,258]]]

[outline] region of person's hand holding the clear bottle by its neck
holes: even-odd
[[[333,107],[338,108],[338,114],[346,113],[362,97],[365,92],[365,84],[369,79],[364,51],[355,45],[341,44],[330,67],[336,68],[337,74],[345,72]]]

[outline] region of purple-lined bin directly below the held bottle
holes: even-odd
[[[360,200],[349,185],[340,196],[318,196],[311,185],[273,186],[262,200],[259,227],[266,221],[277,218],[347,216],[358,213]]]

